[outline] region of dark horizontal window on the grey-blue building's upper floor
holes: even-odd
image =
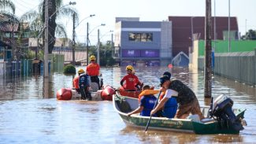
[[[129,33],[129,41],[133,42],[152,42],[153,34],[152,33]]]

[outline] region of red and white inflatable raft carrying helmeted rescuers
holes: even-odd
[[[102,90],[98,90],[97,83],[91,83],[91,101],[112,101],[112,95],[115,94],[115,89],[107,85],[102,87]],[[58,100],[80,100],[81,94],[74,88],[61,88],[57,91]]]

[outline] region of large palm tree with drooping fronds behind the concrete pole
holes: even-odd
[[[30,27],[32,31],[35,31],[34,36],[42,37],[44,31],[44,21],[45,21],[45,1],[42,0],[42,2],[39,4],[39,12],[36,11],[30,11],[28,13],[25,13],[22,17],[20,17],[21,20],[28,21],[30,23]],[[76,13],[76,9],[72,9],[69,6],[64,7],[62,0],[52,0],[48,3],[48,13],[50,20],[48,20],[49,25],[49,54],[52,53],[52,50],[54,49],[55,44],[55,35],[58,35],[59,37],[65,37],[67,38],[67,34],[65,31],[65,27],[63,24],[56,23],[56,20],[58,20],[61,17],[72,17],[72,14],[75,13],[75,19],[76,24],[78,22],[78,14]],[[44,35],[43,35],[44,38]]]

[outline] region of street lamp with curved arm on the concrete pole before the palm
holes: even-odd
[[[43,76],[44,77],[48,77],[49,76],[49,69],[48,69],[48,33],[49,33],[49,25],[48,25],[48,20],[51,19],[51,17],[54,16],[54,14],[56,14],[60,9],[62,9],[65,6],[69,6],[69,5],[76,5],[76,2],[69,2],[69,4],[65,5],[65,6],[61,6],[59,9],[57,9],[52,15],[50,15],[49,17],[49,8],[48,8],[48,2],[49,0],[46,0],[45,2],[45,48],[44,48],[44,61],[43,61]]]

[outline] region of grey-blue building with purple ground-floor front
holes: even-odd
[[[172,54],[172,22],[117,17],[114,58],[120,65],[168,65]]]

